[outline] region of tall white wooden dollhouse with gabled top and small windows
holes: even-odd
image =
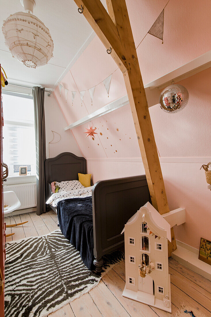
[[[171,313],[170,224],[148,202],[128,220],[123,232],[126,283],[122,295]]]

